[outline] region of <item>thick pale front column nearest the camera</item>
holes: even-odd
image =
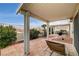
[[[24,55],[29,53],[29,13],[24,13]]]

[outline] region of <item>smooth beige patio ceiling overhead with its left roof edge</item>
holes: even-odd
[[[51,22],[73,18],[77,7],[76,3],[23,3],[17,13],[28,11],[32,17]]]

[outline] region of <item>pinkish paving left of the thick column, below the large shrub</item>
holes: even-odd
[[[23,54],[23,43],[14,44],[1,50],[2,56],[21,56]]]

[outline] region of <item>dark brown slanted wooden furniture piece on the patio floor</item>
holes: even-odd
[[[53,51],[56,51],[62,55],[66,55],[64,44],[58,43],[56,41],[49,41],[49,40],[46,40],[46,43],[47,43],[48,47],[50,48],[50,50],[52,51],[52,53],[53,53]],[[50,55],[52,55],[52,53]]]

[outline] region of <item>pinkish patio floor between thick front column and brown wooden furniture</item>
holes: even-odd
[[[38,38],[36,40],[30,41],[30,56],[49,56],[51,50],[48,48],[46,38]],[[61,54],[54,52],[53,56],[61,56]]]

